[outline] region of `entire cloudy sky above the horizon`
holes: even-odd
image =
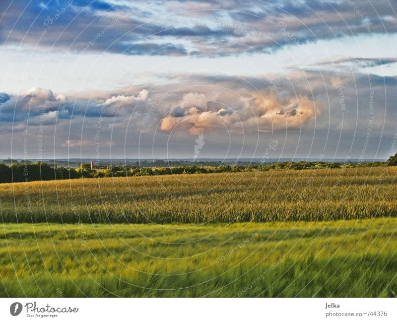
[[[387,159],[397,1],[0,1],[0,158]]]

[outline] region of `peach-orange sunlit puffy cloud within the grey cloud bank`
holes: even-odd
[[[209,100],[207,95],[220,97],[220,102]],[[321,114],[319,108],[316,110],[309,94],[302,93],[285,100],[267,87],[261,93],[250,92],[248,89],[245,95],[247,96],[236,97],[218,91],[185,93],[179,104],[161,120],[160,129],[188,131],[191,134],[222,127],[237,132],[241,132],[241,129],[248,132],[258,129],[295,129]]]

